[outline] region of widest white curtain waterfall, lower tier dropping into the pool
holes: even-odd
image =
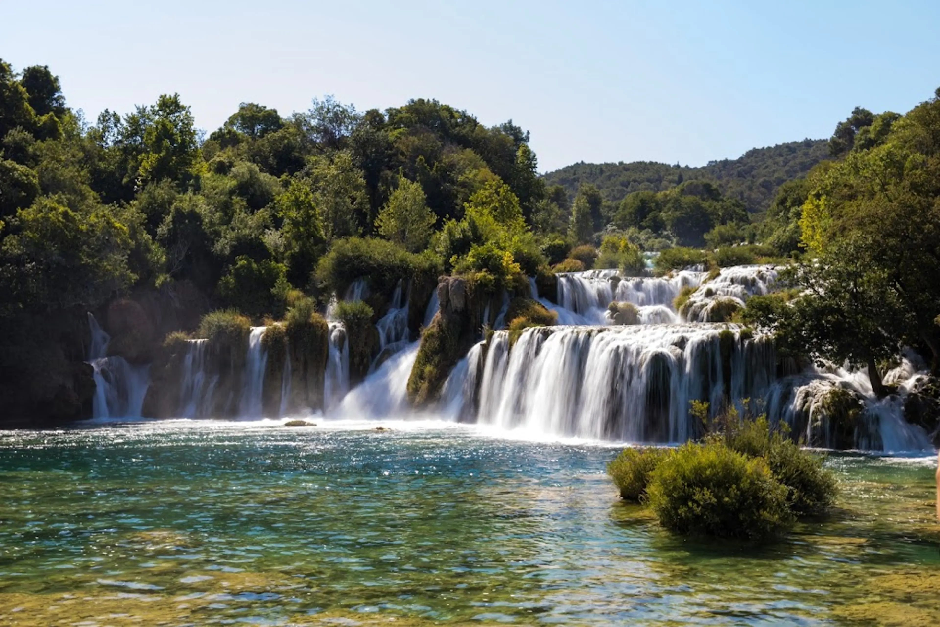
[[[511,351],[508,334],[497,332],[483,368],[478,422],[558,435],[682,442],[698,429],[688,416],[690,400],[719,408],[729,395],[760,395],[773,379],[770,342],[739,337],[733,329],[730,354],[723,358],[724,329],[532,328]]]

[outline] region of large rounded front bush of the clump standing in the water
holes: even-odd
[[[767,462],[719,441],[690,442],[662,460],[647,500],[661,525],[687,535],[766,538],[793,523],[787,488]]]

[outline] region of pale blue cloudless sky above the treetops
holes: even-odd
[[[936,0],[51,1],[3,15],[0,57],[50,66],[90,120],[174,91],[208,131],[239,102],[287,115],[323,94],[359,110],[436,98],[512,118],[540,170],[704,165],[827,137],[855,105],[903,113],[940,86]]]

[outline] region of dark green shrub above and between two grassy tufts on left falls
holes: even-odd
[[[271,259],[256,261],[239,257],[227,274],[219,279],[219,296],[254,318],[264,314],[280,316],[284,310],[282,285],[287,281],[287,267]]]

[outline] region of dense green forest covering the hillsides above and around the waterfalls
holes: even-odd
[[[245,102],[206,135],[176,94],[92,122],[48,68],[0,61],[0,414],[81,415],[86,312],[128,295],[158,321],[122,349],[143,362],[205,312],[322,310],[363,276],[386,302],[399,279],[439,274],[525,291],[553,268],[635,268],[641,250],[670,249],[666,272],[690,259],[680,244],[718,263],[820,257],[831,275],[800,266],[793,281],[827,298],[827,281],[857,276],[864,294],[823,299],[838,311],[763,304],[756,324],[790,337],[797,325],[816,335],[793,341],[820,354],[870,363],[907,341],[935,355],[938,112],[935,99],[904,117],[856,109],[829,142],[705,168],[540,177],[521,127],[432,100],[360,112],[325,97],[286,116]]]

